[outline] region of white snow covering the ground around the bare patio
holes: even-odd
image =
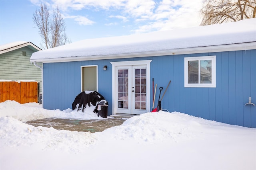
[[[94,113],[0,103],[1,170],[255,170],[256,129],[178,112],[144,113],[103,132],[33,127],[28,120]],[[103,118],[100,118],[103,119]]]

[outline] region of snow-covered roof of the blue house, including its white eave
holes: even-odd
[[[187,53],[193,53],[198,47],[220,48],[221,45],[228,48],[227,45],[241,43],[247,43],[247,49],[256,49],[256,18],[169,31],[85,39],[38,51],[32,54],[30,61],[54,62],[174,55],[185,53],[188,49],[190,52]]]

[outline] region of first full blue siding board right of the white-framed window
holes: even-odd
[[[222,122],[229,123],[228,52],[222,53]]]

